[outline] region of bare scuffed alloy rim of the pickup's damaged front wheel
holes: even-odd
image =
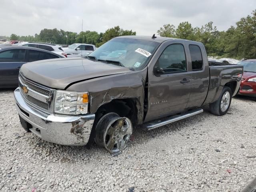
[[[104,133],[104,147],[110,153],[118,153],[122,151],[132,134],[132,122],[130,119],[117,118],[114,119]]]

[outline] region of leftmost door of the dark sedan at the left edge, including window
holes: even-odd
[[[18,75],[25,62],[25,49],[9,49],[0,52],[0,86],[18,86]]]

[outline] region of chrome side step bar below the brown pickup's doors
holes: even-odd
[[[154,122],[144,124],[144,126],[149,131],[149,130],[152,130],[154,128],[158,128],[158,127],[167,125],[169,123],[173,123],[175,121],[182,120],[182,119],[185,119],[187,117],[191,117],[193,115],[202,113],[203,111],[204,110],[202,110],[202,109],[191,110],[191,111],[188,111],[188,112],[180,114],[180,115],[175,115],[175,116],[164,118],[162,120],[157,120],[157,121],[154,121]]]

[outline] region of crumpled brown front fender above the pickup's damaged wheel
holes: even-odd
[[[100,106],[116,99],[134,99],[138,110],[138,124],[144,117],[144,88],[148,68],[141,71],[114,74],[85,80],[71,85],[66,90],[77,92],[89,92],[90,113],[96,113]]]

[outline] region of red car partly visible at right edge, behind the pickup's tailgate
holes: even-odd
[[[256,59],[244,60],[238,64],[244,66],[244,74],[238,94],[256,97]]]

